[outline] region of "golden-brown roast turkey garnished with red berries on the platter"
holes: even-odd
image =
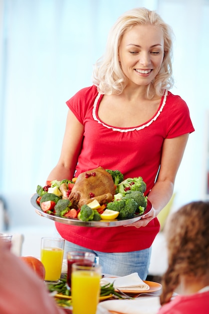
[[[81,173],[69,195],[73,208],[98,200],[100,205],[111,202],[115,194],[112,176],[104,168],[98,167]]]

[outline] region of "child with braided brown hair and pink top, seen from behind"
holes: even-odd
[[[158,314],[209,312],[209,202],[173,213],[165,229],[168,268],[162,277]],[[173,292],[177,296],[173,296]]]

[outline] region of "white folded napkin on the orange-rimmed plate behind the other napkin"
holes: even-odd
[[[105,285],[108,282],[113,282],[115,288],[123,290],[149,290],[149,285],[139,277],[137,272],[122,277],[103,277],[101,279],[101,285]]]

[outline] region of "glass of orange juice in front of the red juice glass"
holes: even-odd
[[[72,264],[73,314],[96,314],[100,296],[101,265],[91,261]]]

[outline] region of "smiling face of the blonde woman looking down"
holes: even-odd
[[[160,70],[164,39],[160,27],[136,25],[126,31],[118,50],[118,59],[128,85],[148,85]]]

